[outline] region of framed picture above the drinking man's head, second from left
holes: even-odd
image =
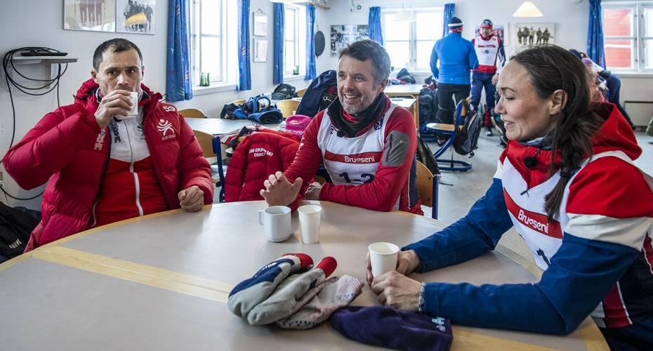
[[[117,0],[116,32],[154,34],[156,0]]]

